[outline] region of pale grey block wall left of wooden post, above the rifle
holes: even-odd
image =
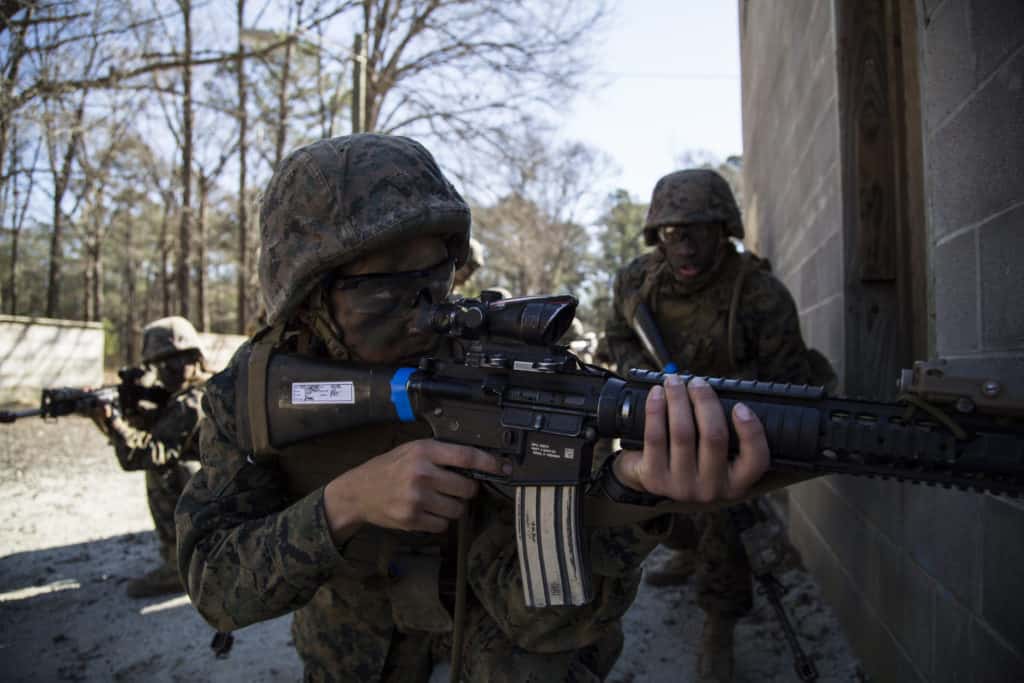
[[[745,244],[771,260],[797,301],[804,338],[842,377],[843,204],[830,2],[741,2],[739,16]]]

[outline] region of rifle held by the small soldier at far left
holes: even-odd
[[[121,382],[97,389],[57,387],[43,389],[39,408],[26,411],[0,411],[0,424],[22,418],[39,416],[55,420],[68,415],[87,416],[96,405],[109,404],[124,417],[135,417],[145,410],[145,402],[163,404],[170,393],[162,386],[146,384],[150,375],[145,368],[122,368],[118,371]]]

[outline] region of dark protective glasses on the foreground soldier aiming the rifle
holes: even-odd
[[[423,270],[381,272],[336,278],[331,289],[345,293],[345,303],[356,313],[383,315],[415,308],[426,298],[438,303],[455,280],[455,262],[445,259]]]

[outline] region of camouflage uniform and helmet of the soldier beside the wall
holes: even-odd
[[[721,222],[727,236],[742,238],[732,193],[713,171],[681,171],[658,181],[645,241],[655,245],[658,227],[690,222]],[[620,372],[652,368],[629,325],[637,305],[645,303],[681,372],[793,383],[823,380],[818,365],[826,361],[804,344],[793,297],[767,261],[737,253],[729,242],[720,252],[715,264],[692,281],[673,274],[662,249],[618,271],[605,338]],[[706,612],[734,620],[750,610],[750,563],[727,511],[677,519],[669,545],[696,548],[698,602]]]

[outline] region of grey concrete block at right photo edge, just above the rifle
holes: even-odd
[[[1021,191],[1024,194],[1024,187]],[[1022,348],[1024,204],[993,218],[978,230],[982,347]]]

